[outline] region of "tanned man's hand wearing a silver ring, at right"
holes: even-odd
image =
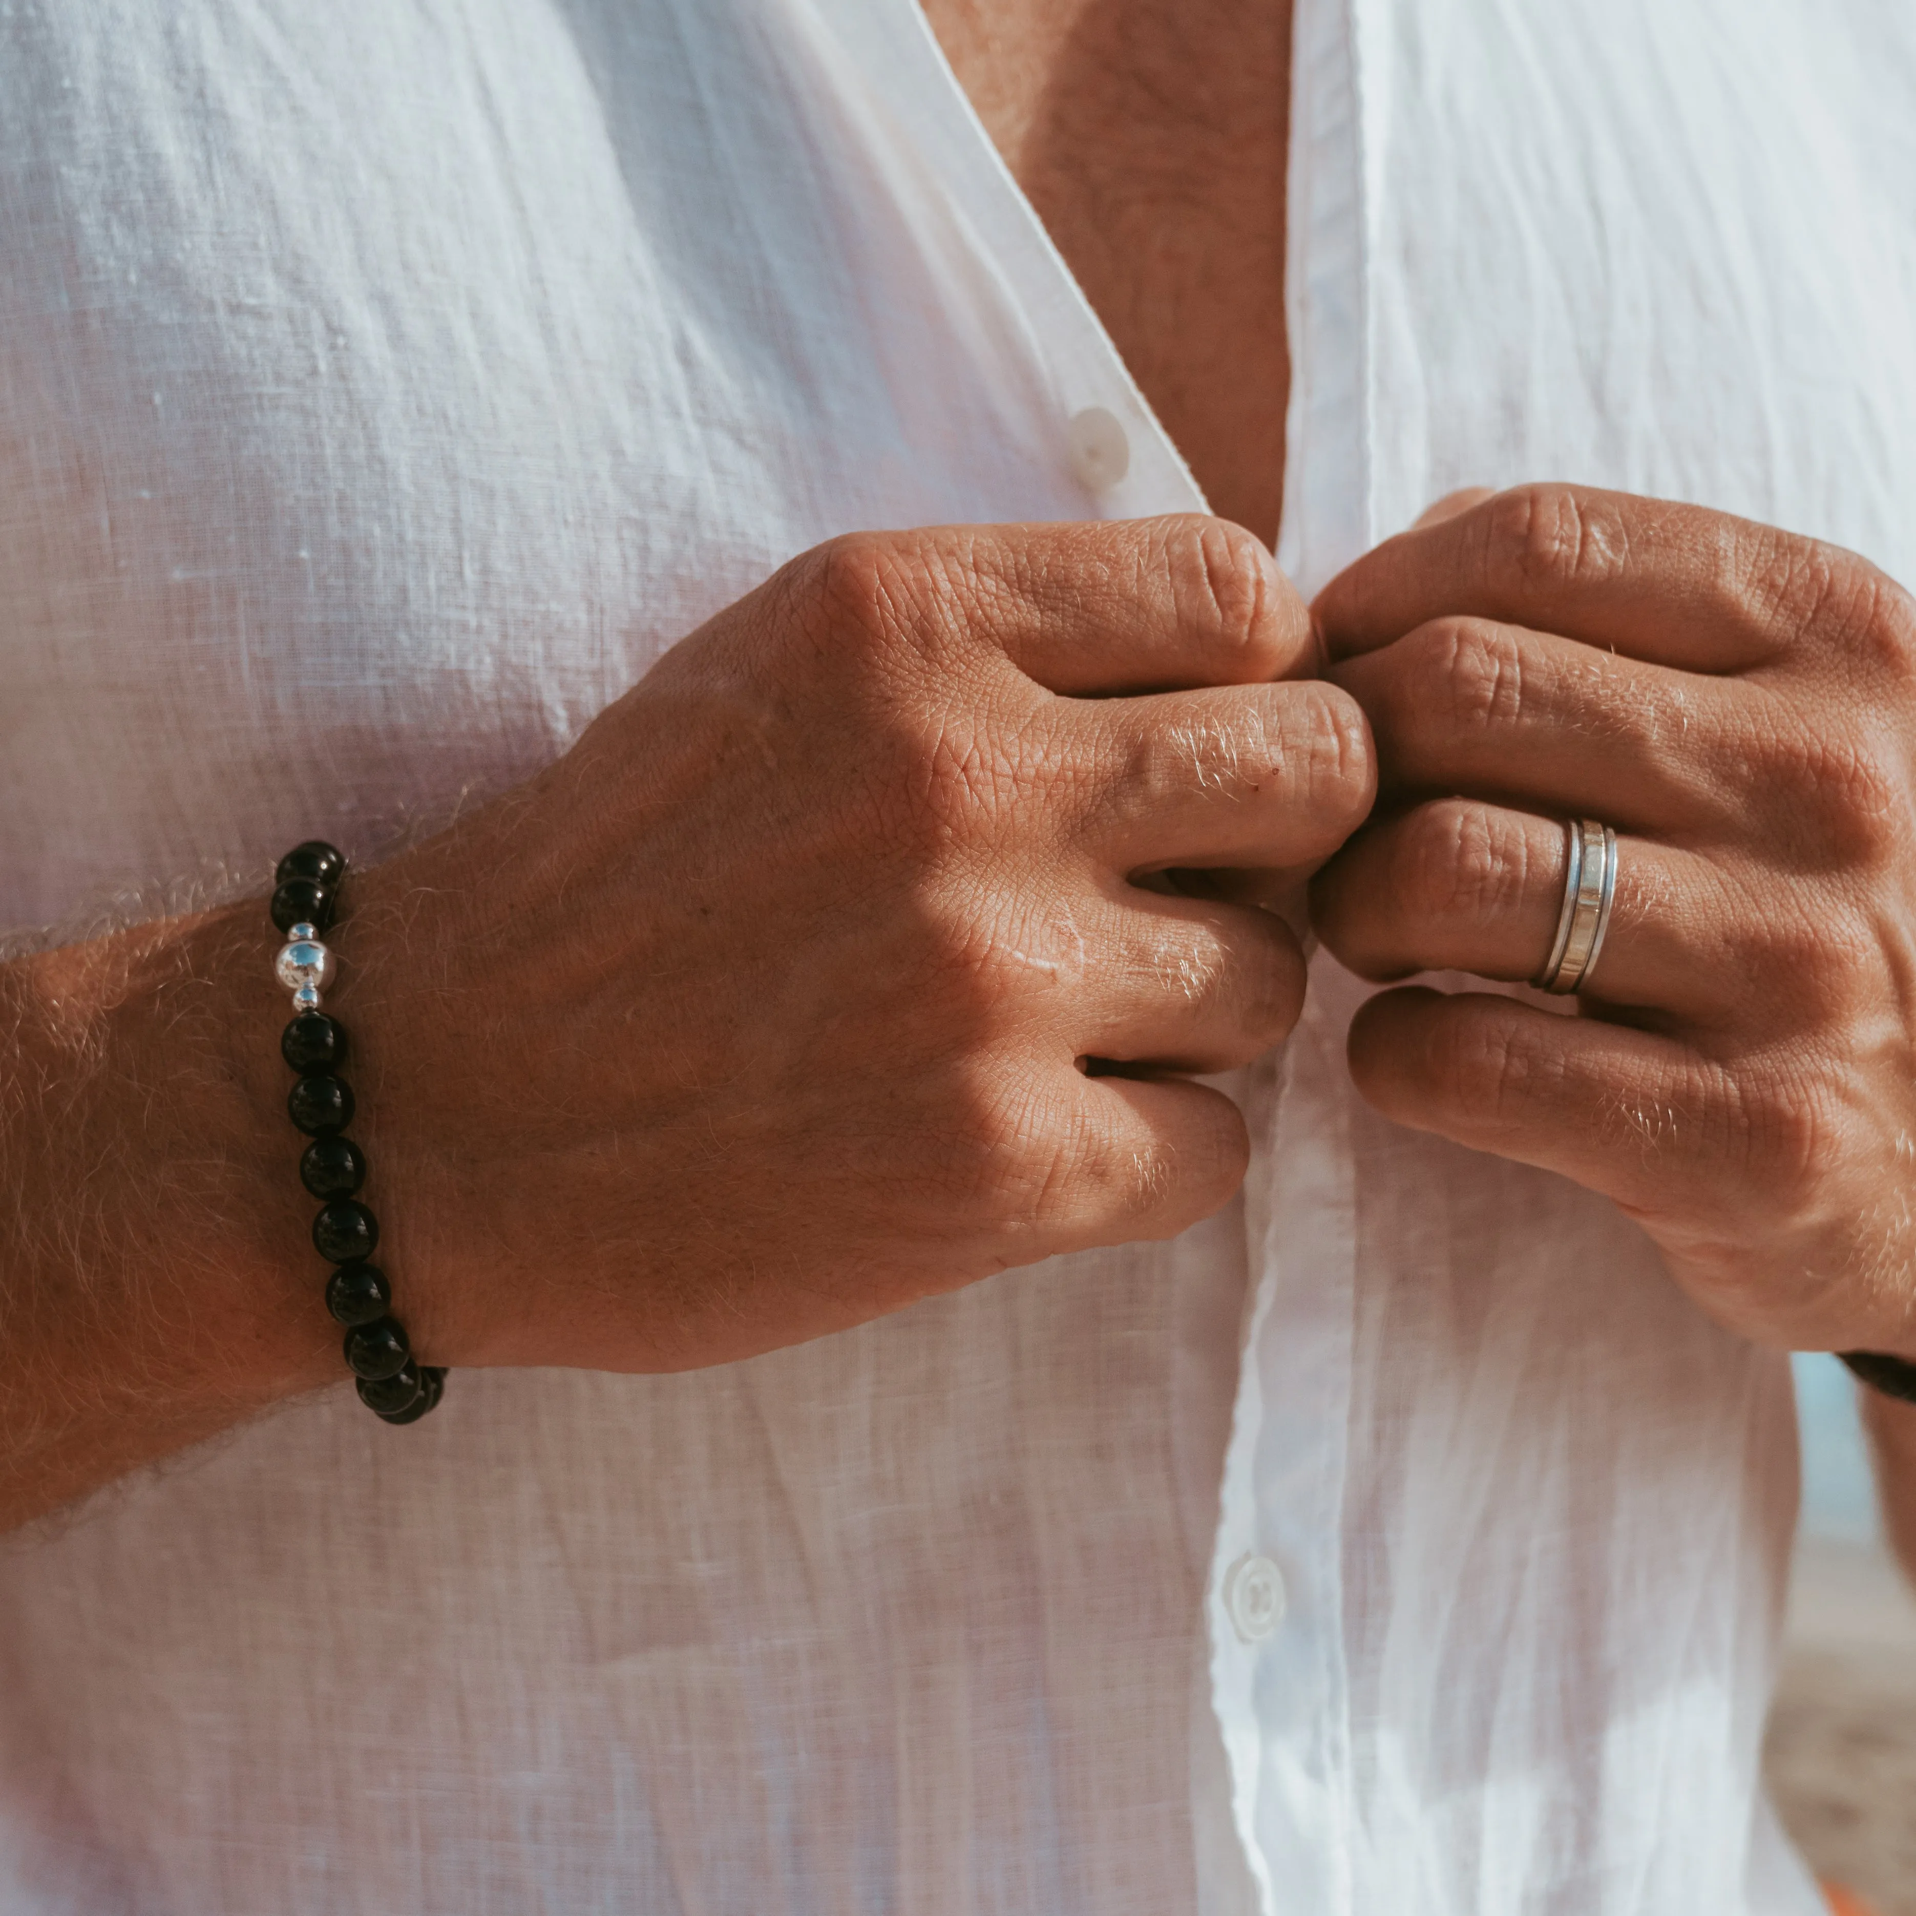
[[[1849,552],[1531,487],[1320,596],[1385,810],[1314,881],[1364,977],[1521,981],[1565,816],[1615,826],[1581,1017],[1383,992],[1351,1031],[1404,1125],[1613,1198],[1724,1324],[1916,1357],[1916,607]]]

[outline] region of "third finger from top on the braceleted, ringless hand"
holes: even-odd
[[[1297,1023],[1305,956],[1249,906],[1132,893],[1098,929],[1092,991],[1073,1019],[1079,1058],[1161,1071],[1234,1071]]]

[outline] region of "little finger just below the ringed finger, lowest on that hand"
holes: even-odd
[[[1657,1033],[1516,998],[1380,992],[1351,1023],[1351,1079],[1393,1123],[1558,1171],[1617,1203],[1703,1209],[1728,1190],[1732,1090]]]

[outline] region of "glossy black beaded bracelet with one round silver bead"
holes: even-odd
[[[326,1309],[347,1326],[345,1355],[360,1401],[387,1424],[418,1424],[439,1403],[446,1374],[414,1360],[404,1326],[393,1316],[393,1288],[368,1263],[379,1247],[379,1220],[354,1196],[366,1182],[366,1155],[343,1136],[353,1123],[353,1086],[339,1077],[347,1033],[320,1010],[320,987],[333,975],[333,954],[320,933],[331,927],[345,874],[345,856],[322,839],[295,845],[274,872],[272,922],[285,933],[274,973],[293,994],[280,1056],[299,1073],[285,1109],[312,1138],[299,1159],[299,1182],[320,1199],[312,1243],[335,1266],[326,1280]]]

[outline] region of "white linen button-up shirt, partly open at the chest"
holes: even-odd
[[[1916,11],[1295,34],[1307,592],[1529,477],[1916,579]],[[374,856],[833,533],[1198,506],[910,0],[0,0],[0,927]],[[1176,1243],[10,1540],[0,1912],[1807,1916],[1784,1364],[1360,994]]]

